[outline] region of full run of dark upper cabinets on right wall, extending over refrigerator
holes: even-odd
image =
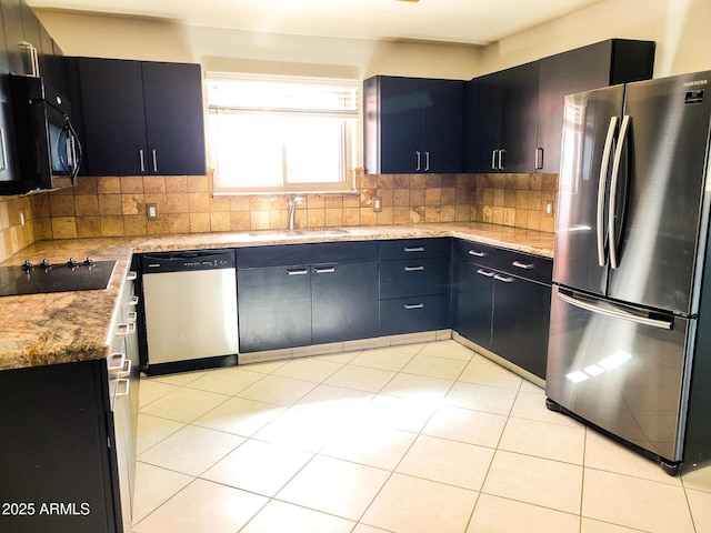
[[[464,171],[559,172],[565,94],[650,79],[653,63],[653,42],[610,39],[474,78],[464,89]]]

